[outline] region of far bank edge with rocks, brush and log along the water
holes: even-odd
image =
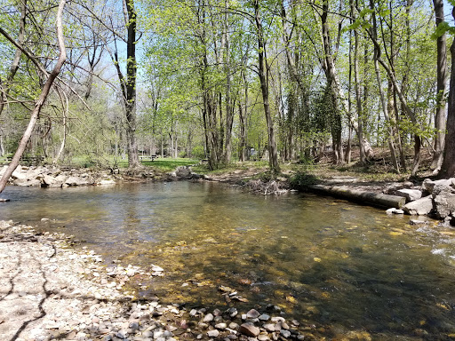
[[[193,165],[195,166],[195,165]],[[455,178],[443,188],[443,197],[439,193],[433,195],[433,189],[440,187],[440,180],[425,179],[419,185],[411,181],[363,181],[360,178],[333,176],[318,178],[314,175],[304,175],[288,171],[279,178],[267,178],[263,169],[248,169],[235,171],[218,171],[217,173],[197,174],[193,166],[180,166],[171,173],[156,171],[153,168],[140,167],[126,170],[122,174],[112,174],[102,170],[71,169],[62,171],[58,168],[22,167],[14,171],[10,179],[11,185],[16,186],[112,186],[119,182],[164,182],[174,180],[216,181],[229,186],[239,186],[256,194],[283,194],[290,190],[300,192],[310,191],[315,194],[330,195],[386,209],[391,214],[410,214],[411,216],[427,216],[444,220],[446,224],[455,224]],[[0,175],[4,169],[0,170]],[[296,180],[297,179],[297,180]],[[438,189],[439,192],[441,190]],[[413,192],[413,193],[411,193]],[[411,193],[411,194],[410,194]],[[417,195],[416,193],[419,193]],[[422,198],[422,194],[427,195]],[[417,196],[416,196],[417,195]],[[431,198],[429,195],[433,195]],[[436,196],[439,195],[439,199]],[[7,202],[8,198],[0,198]]]

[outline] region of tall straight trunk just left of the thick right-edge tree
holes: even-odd
[[[433,0],[435,6],[436,27],[444,21],[443,0]],[[437,38],[437,86],[436,86],[436,113],[435,113],[435,154],[430,168],[435,172],[441,169],[443,163],[443,149],[445,139],[445,112],[447,110],[446,102],[446,79],[447,79],[447,52],[446,52],[446,35]]]

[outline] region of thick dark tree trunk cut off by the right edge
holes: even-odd
[[[455,20],[455,7],[451,11]],[[447,115],[447,136],[445,137],[443,164],[438,176],[455,176],[455,41],[451,44],[451,84],[449,88],[449,111]]]

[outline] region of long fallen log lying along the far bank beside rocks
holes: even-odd
[[[349,186],[312,185],[308,187],[314,192],[386,209],[393,207],[401,209],[406,203],[406,198],[402,196],[367,192]]]

